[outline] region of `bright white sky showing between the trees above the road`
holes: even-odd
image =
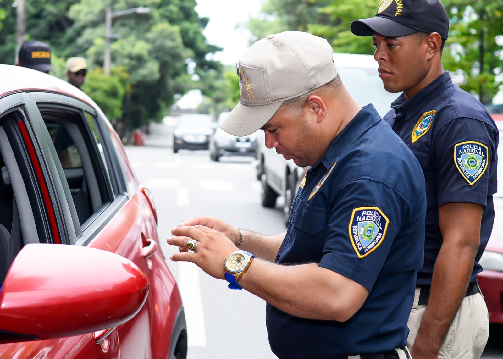
[[[235,64],[239,56],[248,48],[250,34],[245,29],[236,29],[248,18],[260,12],[260,0],[197,0],[196,11],[200,17],[210,19],[203,31],[208,43],[222,47],[213,59],[224,64]],[[177,105],[180,108],[195,108],[201,102],[199,90],[190,91]]]

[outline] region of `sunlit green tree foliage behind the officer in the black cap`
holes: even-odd
[[[442,0],[451,20],[444,67],[467,74],[466,91],[489,103],[503,75],[503,0]],[[252,42],[271,33],[307,31],[328,40],[334,52],[373,54],[372,41],[351,33],[351,21],[375,15],[379,0],[268,0],[243,27]],[[499,42],[498,42],[499,41]],[[498,76],[499,74],[499,76]]]

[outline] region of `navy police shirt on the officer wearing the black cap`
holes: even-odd
[[[419,160],[426,179],[425,266],[417,272],[417,286],[432,283],[433,268],[442,246],[439,208],[452,202],[484,206],[480,247],[470,283],[482,271],[478,260],[494,221],[499,133],[480,102],[451,81],[444,72],[405,101],[402,94],[384,120]]]

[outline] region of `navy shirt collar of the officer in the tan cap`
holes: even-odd
[[[380,119],[381,116],[377,113],[374,105],[369,104],[365,106],[355,117],[353,117],[341,133],[332,140],[323,157],[321,157],[321,159],[310,169],[316,168],[319,163],[323,163],[323,166],[325,166],[327,170],[331,168],[332,165],[336,163],[339,155]]]

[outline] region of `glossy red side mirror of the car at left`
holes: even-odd
[[[118,254],[27,244],[0,289],[0,343],[79,335],[120,325],[141,309],[149,283]]]

